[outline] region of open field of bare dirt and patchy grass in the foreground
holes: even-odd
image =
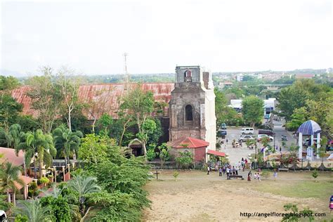
[[[273,173],[263,181],[226,180],[217,172],[162,171],[159,181],[152,180],[145,189],[150,192],[151,209],[143,212],[143,221],[281,221],[281,218],[245,218],[240,212],[285,212],[289,202],[299,208],[310,207],[326,213],[332,195],[332,173],[322,173],[318,183],[308,172],[281,172],[273,181]],[[247,172],[245,172],[247,173]],[[324,218],[317,218],[323,220]]]

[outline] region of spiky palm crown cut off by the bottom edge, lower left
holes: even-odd
[[[31,201],[20,201],[22,207],[14,209],[16,214],[27,216],[30,222],[51,221],[51,209],[49,207],[42,207],[39,199],[32,199]]]

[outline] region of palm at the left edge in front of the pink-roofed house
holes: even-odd
[[[18,192],[17,184],[25,185],[25,183],[20,179],[20,171],[22,168],[20,166],[15,166],[11,162],[5,162],[1,164],[1,174],[0,181],[1,187],[7,193],[7,200],[11,202],[11,195],[9,191],[13,191],[13,204],[15,206],[15,192]]]

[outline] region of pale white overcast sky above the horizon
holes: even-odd
[[[1,1],[0,69],[79,74],[327,68],[332,1]]]

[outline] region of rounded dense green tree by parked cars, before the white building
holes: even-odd
[[[256,96],[247,96],[242,100],[242,115],[252,127],[263,118],[263,100]]]

